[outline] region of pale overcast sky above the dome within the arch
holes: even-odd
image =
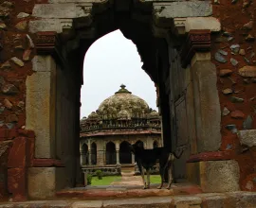
[[[156,109],[155,85],[141,69],[137,47],[119,30],[93,43],[83,63],[81,118],[95,112],[101,102],[114,95],[121,84]]]

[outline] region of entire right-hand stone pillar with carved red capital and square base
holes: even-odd
[[[191,140],[191,146],[196,142],[196,147],[187,160],[188,179],[200,184],[204,192],[238,191],[239,165],[229,160],[227,152],[219,151],[221,110],[216,66],[210,61],[210,30],[190,31],[181,59],[183,67],[191,65],[196,133],[196,140]]]

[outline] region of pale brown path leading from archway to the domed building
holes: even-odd
[[[112,182],[111,185],[143,185],[141,176],[134,176],[134,172],[121,173],[120,182]]]

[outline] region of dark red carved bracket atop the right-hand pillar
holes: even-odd
[[[182,67],[186,67],[196,52],[210,51],[210,29],[191,30],[181,52]]]

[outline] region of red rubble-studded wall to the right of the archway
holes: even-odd
[[[220,150],[229,152],[229,157],[238,162],[241,188],[255,191],[255,145],[253,140],[243,144],[236,131],[256,129],[256,5],[250,0],[214,2],[213,16],[220,20],[223,29],[211,37],[211,61],[217,68],[222,111]]]

